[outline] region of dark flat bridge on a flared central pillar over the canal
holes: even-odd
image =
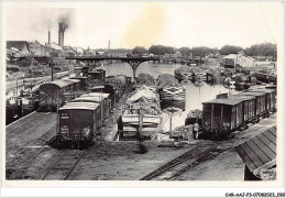
[[[65,59],[76,59],[79,62],[88,62],[88,64],[90,62],[101,62],[105,59],[120,59],[122,62],[128,63],[133,70],[133,79],[135,79],[135,75],[136,75],[136,69],[139,67],[140,64],[142,64],[143,62],[150,62],[150,61],[158,61],[158,57],[140,57],[140,56],[130,56],[130,57],[119,57],[119,56],[66,56]]]

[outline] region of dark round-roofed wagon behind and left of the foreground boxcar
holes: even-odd
[[[43,84],[40,90],[40,111],[56,111],[66,102],[65,92],[78,90],[79,80],[65,79]]]

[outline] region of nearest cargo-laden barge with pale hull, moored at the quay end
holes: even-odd
[[[151,89],[153,87],[156,90],[153,82],[155,80],[150,75],[140,75],[136,89],[130,94],[119,118],[118,129],[122,131],[120,139],[150,139],[158,130],[162,111],[158,95]]]

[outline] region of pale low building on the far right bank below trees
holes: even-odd
[[[222,65],[226,68],[234,68],[234,66],[254,67],[255,59],[243,54],[229,54],[222,58]]]

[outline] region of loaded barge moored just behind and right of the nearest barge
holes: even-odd
[[[174,76],[168,74],[160,75],[157,78],[157,88],[162,109],[174,107],[185,111],[186,89]]]

